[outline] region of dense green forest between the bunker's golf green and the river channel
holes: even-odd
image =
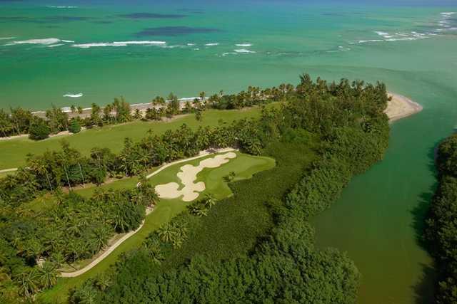
[[[249,123],[243,143],[276,168],[231,184],[229,199],[196,202],[73,290],[71,303],[356,303],[361,274],[344,253],[315,248],[308,219],[383,157],[386,104],[382,84],[302,75],[281,108]]]

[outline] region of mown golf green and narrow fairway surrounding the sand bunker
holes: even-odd
[[[229,172],[235,172],[236,179],[241,180],[251,178],[253,174],[256,174],[256,172],[271,169],[275,166],[274,159],[268,157],[254,157],[240,152],[236,152],[236,154],[237,157],[235,159],[231,159],[230,162],[221,165],[221,167],[214,169],[206,168],[197,175],[197,180],[199,182],[205,182],[206,184],[206,190],[202,194],[210,192],[219,199],[223,199],[226,196],[231,196],[231,189],[223,179],[223,177],[229,174]],[[180,171],[182,166],[185,164],[197,165],[199,162],[201,162],[201,160],[208,157],[214,157],[214,154],[207,157],[194,159],[190,162],[175,164],[174,166],[164,169],[164,171],[160,172],[159,174],[154,175],[149,180],[153,185],[164,184],[168,182],[179,183],[179,179],[176,177],[176,174]],[[121,179],[111,184],[106,184],[102,187],[106,189],[122,189],[126,187],[131,188],[135,187],[137,182],[138,178],[132,177],[130,179]],[[91,196],[95,189],[95,187],[92,187],[87,189],[80,189],[77,192],[83,196]],[[34,204],[37,203],[35,202]],[[101,263],[99,263],[94,268],[91,268],[90,271],[76,278],[59,278],[58,283],[51,290],[47,290],[45,293],[41,294],[39,298],[49,303],[59,303],[65,301],[71,288],[80,285],[88,278],[94,278],[99,273],[106,271],[109,266],[113,265],[116,262],[122,253],[125,253],[133,248],[138,248],[144,239],[146,239],[146,236],[148,236],[152,231],[158,229],[162,224],[170,221],[172,217],[176,216],[181,211],[184,211],[188,204],[190,203],[185,203],[184,201],[181,201],[181,199],[161,199],[156,205],[154,211],[146,216],[144,227],[139,232],[134,234],[134,236],[131,236],[131,238],[122,243],[121,246],[116,248],[116,250],[113,251],[103,261],[101,261]]]

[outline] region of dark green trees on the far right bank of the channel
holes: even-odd
[[[436,259],[436,303],[457,303],[457,134],[438,147],[438,188],[426,220],[425,239]]]

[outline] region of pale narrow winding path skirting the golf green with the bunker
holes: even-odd
[[[186,158],[186,159],[181,159],[181,160],[177,160],[176,162],[170,162],[168,164],[164,164],[162,167],[160,167],[159,169],[156,169],[156,171],[152,172],[151,174],[147,175],[146,176],[146,179],[150,179],[151,177],[154,177],[154,175],[156,174],[159,174],[159,172],[163,171],[164,169],[168,168],[168,167],[171,167],[173,166],[174,164],[180,164],[181,162],[189,162],[190,160],[194,160],[194,159],[199,159],[201,157],[205,157],[209,154],[215,154],[215,153],[223,153],[223,152],[231,152],[231,151],[236,151],[235,149],[232,149],[232,148],[226,148],[226,149],[218,149],[218,150],[205,150],[205,151],[201,151],[199,153],[199,155],[197,155],[196,157],[190,157],[190,158]],[[146,209],[146,216],[148,216],[152,211],[154,211],[154,209]],[[98,263],[100,263],[101,261],[103,261],[107,256],[109,256],[109,254],[111,252],[113,252],[116,248],[118,248],[121,243],[124,243],[124,241],[126,241],[127,239],[129,239],[131,236],[133,236],[134,234],[136,234],[138,231],[141,230],[141,228],[143,228],[144,226],[144,222],[146,221],[146,219],[144,219],[144,221],[141,223],[141,225],[138,227],[138,229],[136,229],[135,231],[130,231],[128,234],[126,234],[125,236],[122,236],[121,239],[117,240],[114,244],[112,244],[111,246],[109,246],[109,248],[106,248],[103,253],[101,253],[100,256],[98,256],[97,258],[94,259],[94,261],[91,261],[91,263],[89,263],[89,265],[85,266],[84,268],[81,268],[79,269],[78,271],[73,271],[71,273],[67,273],[67,272],[62,272],[60,273],[60,276],[62,278],[74,278],[76,276],[81,276],[81,274],[83,273],[86,273],[87,271],[91,270],[91,268],[94,268]]]

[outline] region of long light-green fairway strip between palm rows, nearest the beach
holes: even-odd
[[[51,137],[39,142],[29,140],[26,137],[4,140],[0,141],[0,169],[24,165],[26,155],[29,153],[41,154],[46,150],[58,150],[60,148],[59,141],[62,139],[68,140],[72,147],[83,154],[89,154],[93,147],[109,147],[114,152],[119,152],[123,147],[124,138],[131,137],[133,140],[139,140],[146,136],[148,130],[160,135],[166,130],[176,130],[184,123],[193,129],[199,126],[216,126],[219,125],[219,120],[232,122],[241,118],[258,117],[260,112],[258,107],[243,110],[208,110],[204,112],[203,120],[200,122],[195,119],[195,115],[183,115],[169,122],[136,121],[124,125],[109,125],[85,130],[75,135]]]

